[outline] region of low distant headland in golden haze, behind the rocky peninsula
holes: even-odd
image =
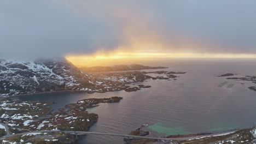
[[[130,65],[113,65],[107,67],[82,67],[87,73],[98,73],[98,72],[108,72],[108,71],[125,71],[125,70],[144,70],[144,69],[167,69],[167,67],[149,67],[139,64],[130,64]]]

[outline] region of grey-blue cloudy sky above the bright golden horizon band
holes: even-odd
[[[256,1],[2,0],[0,57],[256,54]]]

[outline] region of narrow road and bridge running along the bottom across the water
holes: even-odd
[[[191,137],[178,137],[178,138],[165,138],[165,137],[146,137],[146,136],[135,136],[135,135],[122,135],[122,134],[108,134],[108,133],[97,133],[97,132],[90,132],[90,131],[62,131],[62,130],[42,130],[42,131],[31,131],[26,133],[20,133],[20,134],[13,134],[13,135],[5,135],[3,137],[0,137],[0,139],[4,139],[11,136],[19,136],[19,135],[26,135],[31,133],[53,133],[59,131],[61,133],[66,134],[72,134],[72,135],[112,135],[112,136],[121,136],[121,137],[131,137],[131,138],[137,138],[137,139],[151,139],[151,140],[189,140],[189,139],[199,139],[200,137],[210,137],[210,136],[219,136],[219,135],[225,135],[225,134],[231,134],[235,133],[235,131],[229,131],[228,133],[220,133],[220,134],[210,134],[210,135],[199,135],[199,136],[191,136]]]

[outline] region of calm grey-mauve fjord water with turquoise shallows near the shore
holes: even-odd
[[[256,75],[254,59],[158,59],[139,64],[170,67],[166,71],[187,71],[174,81],[147,80],[138,92],[60,93],[22,97],[24,100],[55,101],[54,109],[86,98],[123,97],[120,103],[100,104],[88,109],[99,115],[90,131],[129,134],[142,124],[152,136],[196,134],[249,128],[256,123],[256,92],[252,82],[217,77]],[[156,71],[156,70],[143,70]],[[227,81],[223,87],[220,83]],[[228,88],[229,84],[234,87]],[[136,83],[138,85],[139,83]],[[77,143],[123,143],[122,137],[87,135]]]

